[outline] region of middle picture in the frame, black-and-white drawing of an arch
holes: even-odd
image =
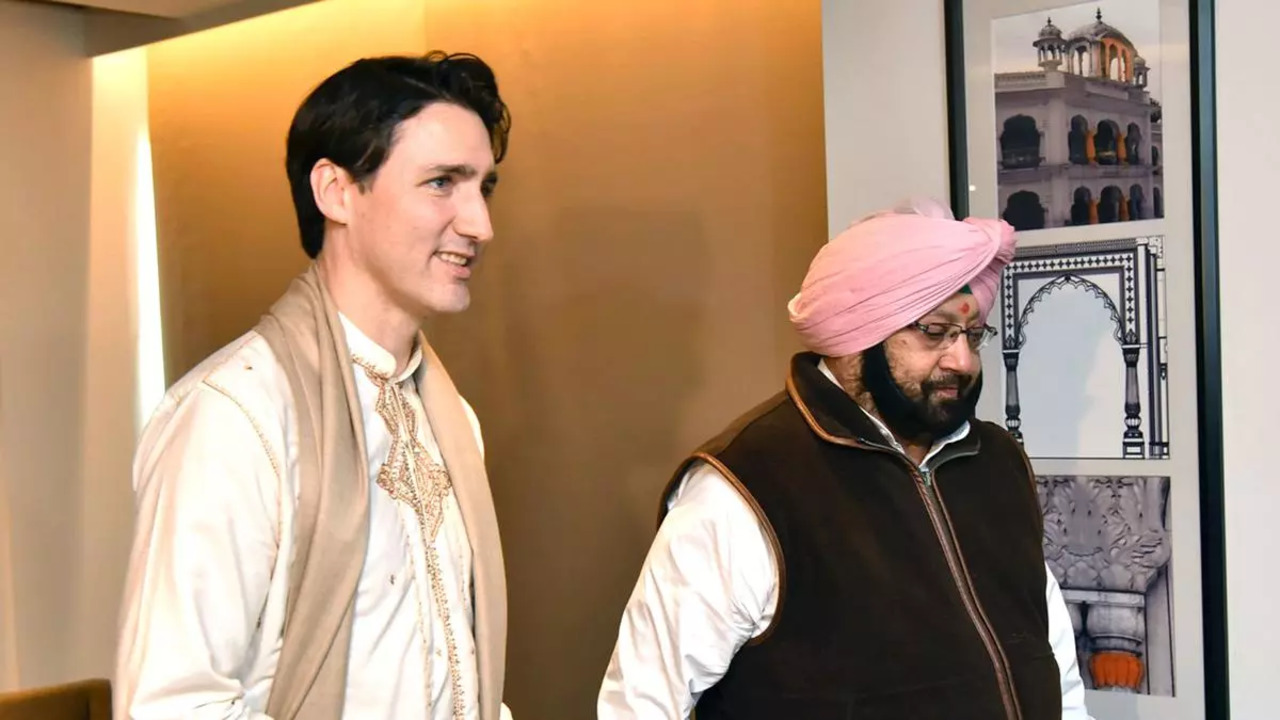
[[[1028,455],[1170,456],[1162,237],[1024,247],[1001,295],[1005,427]]]

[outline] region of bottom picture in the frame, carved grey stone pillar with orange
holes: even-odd
[[[1047,475],[1044,559],[1071,611],[1094,689],[1140,692],[1147,592],[1170,559],[1169,478]]]

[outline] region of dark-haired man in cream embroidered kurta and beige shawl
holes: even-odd
[[[420,327],[470,304],[509,124],[489,67],[443,53],[298,108],[314,263],[142,434],[118,717],[507,715],[480,425]]]

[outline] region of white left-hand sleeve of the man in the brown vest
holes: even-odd
[[[755,514],[713,466],[685,475],[622,615],[600,720],[687,719],[768,626],[777,565]]]

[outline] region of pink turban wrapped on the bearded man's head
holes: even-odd
[[[957,222],[945,208],[872,215],[818,251],[787,304],[791,324],[805,347],[840,357],[882,342],[966,284],[986,318],[1014,245],[1009,223]]]

